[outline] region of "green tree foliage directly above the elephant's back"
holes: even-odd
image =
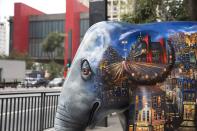
[[[194,0],[135,0],[135,12],[123,14],[122,21],[148,23],[192,20],[188,12],[191,2],[188,1]]]

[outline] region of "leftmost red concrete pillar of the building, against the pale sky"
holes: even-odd
[[[36,10],[23,3],[14,5],[14,29],[13,50],[20,53],[28,53],[29,16],[42,15],[43,12]]]

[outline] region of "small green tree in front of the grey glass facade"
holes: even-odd
[[[52,32],[44,39],[42,49],[47,53],[49,59],[54,58],[54,52],[56,49],[61,49],[62,43],[64,42],[64,35]]]

